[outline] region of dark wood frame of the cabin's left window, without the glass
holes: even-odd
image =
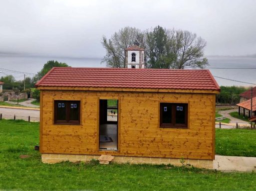
[[[58,120],[58,103],[65,103],[65,120]],[[77,104],[78,120],[70,120],[70,105],[72,103]],[[54,124],[80,124],[80,100],[54,100]]]

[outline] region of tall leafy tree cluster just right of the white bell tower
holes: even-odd
[[[195,33],[157,26],[147,32],[148,68],[204,68],[208,65],[205,46],[206,41]]]

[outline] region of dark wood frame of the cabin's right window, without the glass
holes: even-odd
[[[171,121],[172,123],[163,123],[163,105],[164,104],[171,104],[172,105],[172,116]],[[182,105],[185,111],[185,123],[184,124],[176,124],[176,107]],[[188,103],[170,103],[170,102],[160,102],[160,127],[163,128],[188,128]]]

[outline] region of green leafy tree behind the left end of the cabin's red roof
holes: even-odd
[[[44,64],[42,70],[38,72],[32,79],[32,83],[36,83],[40,80],[47,72],[49,72],[53,67],[69,67],[66,63],[61,63],[58,61],[50,60]]]

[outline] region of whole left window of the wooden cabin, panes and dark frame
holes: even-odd
[[[80,124],[80,101],[55,100],[55,124]]]

